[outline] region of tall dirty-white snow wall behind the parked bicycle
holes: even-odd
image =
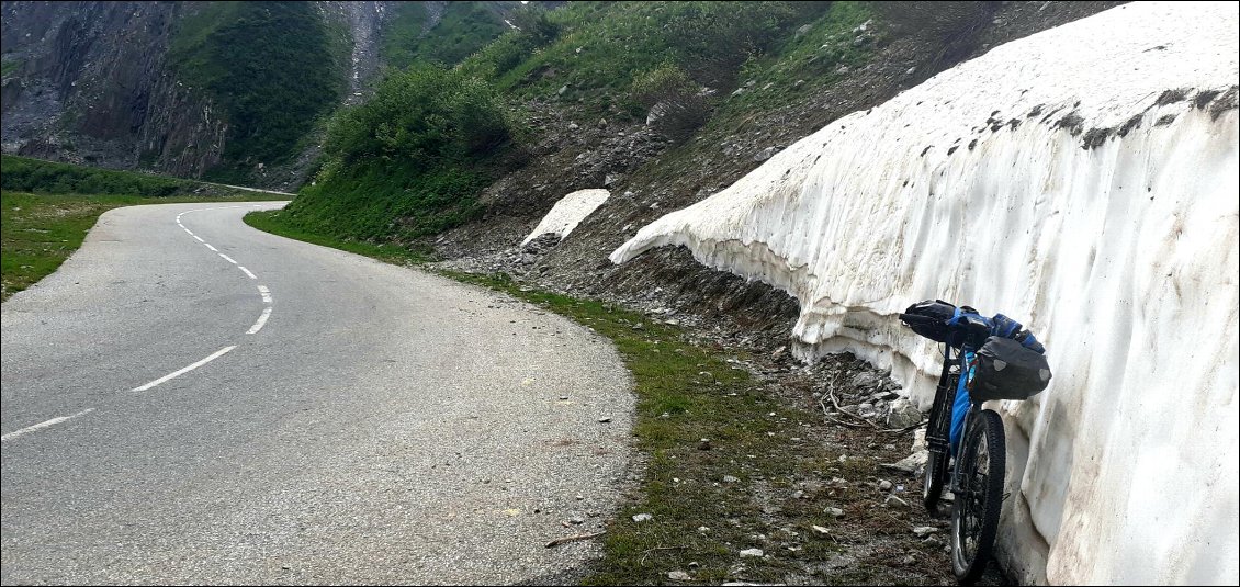
[[[890,366],[923,407],[941,298],[1003,311],[1054,379],[1008,431],[1024,582],[1238,577],[1238,7],[1128,4],[836,120],[611,254],[683,244],[795,295],[797,352]]]

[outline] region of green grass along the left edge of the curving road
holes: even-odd
[[[82,246],[99,215],[120,206],[283,200],[259,192],[222,197],[45,195],[0,191],[0,300],[47,277]]]

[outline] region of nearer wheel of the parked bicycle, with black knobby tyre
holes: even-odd
[[[960,447],[960,486],[951,516],[951,563],[956,580],[971,585],[982,576],[994,549],[1003,508],[1007,447],[1003,421],[982,410]]]

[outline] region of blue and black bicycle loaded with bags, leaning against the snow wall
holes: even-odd
[[[944,318],[949,308],[951,318]],[[1003,421],[982,405],[1028,400],[1045,388],[1050,369],[1037,339],[1002,314],[987,319],[972,308],[934,300],[909,307],[900,320],[942,343],[942,367],[926,427],[929,457],[921,501],[935,515],[944,488],[951,489],[952,571],[957,581],[970,585],[982,576],[993,553],[1007,467]],[[1008,369],[1013,369],[1008,376],[999,375]],[[967,410],[962,418],[952,418],[962,408],[956,406],[960,392],[968,395]],[[959,429],[955,439],[952,428]],[[956,443],[959,454],[952,464]]]

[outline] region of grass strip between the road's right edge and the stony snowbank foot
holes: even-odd
[[[279,215],[252,212],[246,218],[290,238],[383,261],[412,259],[382,247],[289,231]],[[740,366],[738,359],[748,357],[729,356],[722,346],[696,343],[677,326],[606,302],[538,290],[506,274],[438,273],[591,328],[611,339],[632,372],[642,480],[609,522],[604,558],[585,585],[661,585],[671,581],[671,571],[713,583],[848,585],[893,577],[888,567],[895,563],[887,558],[898,551],[868,549],[870,560],[849,555],[846,571],[825,563],[841,560],[853,536],[908,534],[906,511],[873,501],[877,460],[843,455],[835,442],[843,441],[843,433],[825,431],[821,414],[771,393]],[[858,441],[875,442],[872,436]],[[831,482],[823,483],[827,478]],[[847,511],[847,525],[828,515],[828,508]],[[639,514],[650,519],[635,521]],[[815,531],[815,525],[827,532]],[[763,553],[740,555],[750,549]]]

